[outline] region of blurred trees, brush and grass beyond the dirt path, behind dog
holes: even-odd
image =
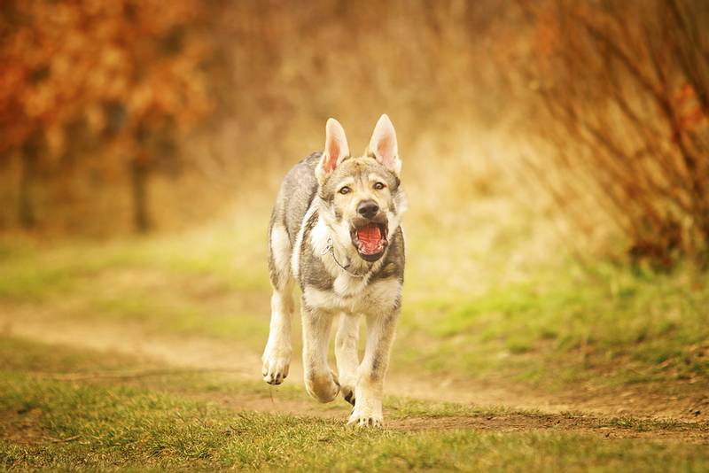
[[[278,183],[329,117],[363,151],[386,112],[410,203],[394,369],[709,402],[706,2],[5,0],[0,37],[11,333],[255,357]]]

